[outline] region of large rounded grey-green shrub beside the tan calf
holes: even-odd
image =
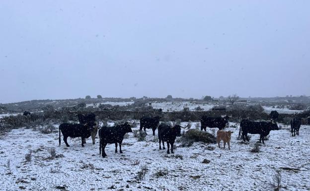
[[[195,142],[216,143],[215,136],[198,129],[189,129],[184,137],[187,139],[193,139]]]

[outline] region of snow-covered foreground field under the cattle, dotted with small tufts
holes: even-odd
[[[220,149],[216,144],[179,147],[177,143],[174,154],[166,154],[166,150],[158,150],[149,129],[147,141],[138,142],[130,133],[124,139],[123,154],[114,153],[114,144],[109,144],[107,158],[99,156],[98,139],[92,145],[88,138],[85,147],[81,147],[79,138],[69,138],[71,146],[67,148],[63,140],[58,145],[58,132],[13,129],[0,135],[0,190],[272,191],[269,184],[276,170],[281,171],[282,184],[288,185],[288,191],[310,190],[310,126],[302,126],[296,137],[290,137],[288,127],[271,131],[259,153],[250,152],[259,135],[252,135],[250,142],[244,144],[237,140],[239,129],[229,129],[234,131],[231,150]],[[207,146],[215,149],[208,150]],[[64,157],[47,159],[52,147]],[[29,150],[33,151],[32,160],[25,162]],[[210,163],[202,163],[204,159]],[[138,180],[143,166],[148,170]]]

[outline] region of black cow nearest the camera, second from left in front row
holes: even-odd
[[[123,153],[122,142],[124,139],[124,135],[127,132],[132,132],[132,127],[133,124],[126,122],[125,124],[120,126],[100,128],[98,131],[100,141],[99,154],[101,155],[102,151],[102,157],[107,156],[104,149],[108,143],[115,143],[115,153],[117,153],[117,143],[119,143],[120,153]]]

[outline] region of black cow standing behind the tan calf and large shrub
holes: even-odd
[[[213,118],[213,117],[203,116],[200,120],[200,123],[201,123],[200,130],[204,129],[206,131],[207,127],[210,127],[210,128],[218,127],[220,130],[222,130],[224,127],[227,126],[229,118],[230,118],[229,116],[225,116],[224,118],[222,117]]]

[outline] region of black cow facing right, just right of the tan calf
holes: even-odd
[[[246,140],[249,141],[247,133],[260,134],[259,142],[261,142],[262,140],[263,144],[265,144],[264,137],[267,136],[271,130],[279,130],[277,123],[242,120],[240,123],[239,136],[240,133],[242,132],[243,141],[245,141],[244,136],[246,136]]]

